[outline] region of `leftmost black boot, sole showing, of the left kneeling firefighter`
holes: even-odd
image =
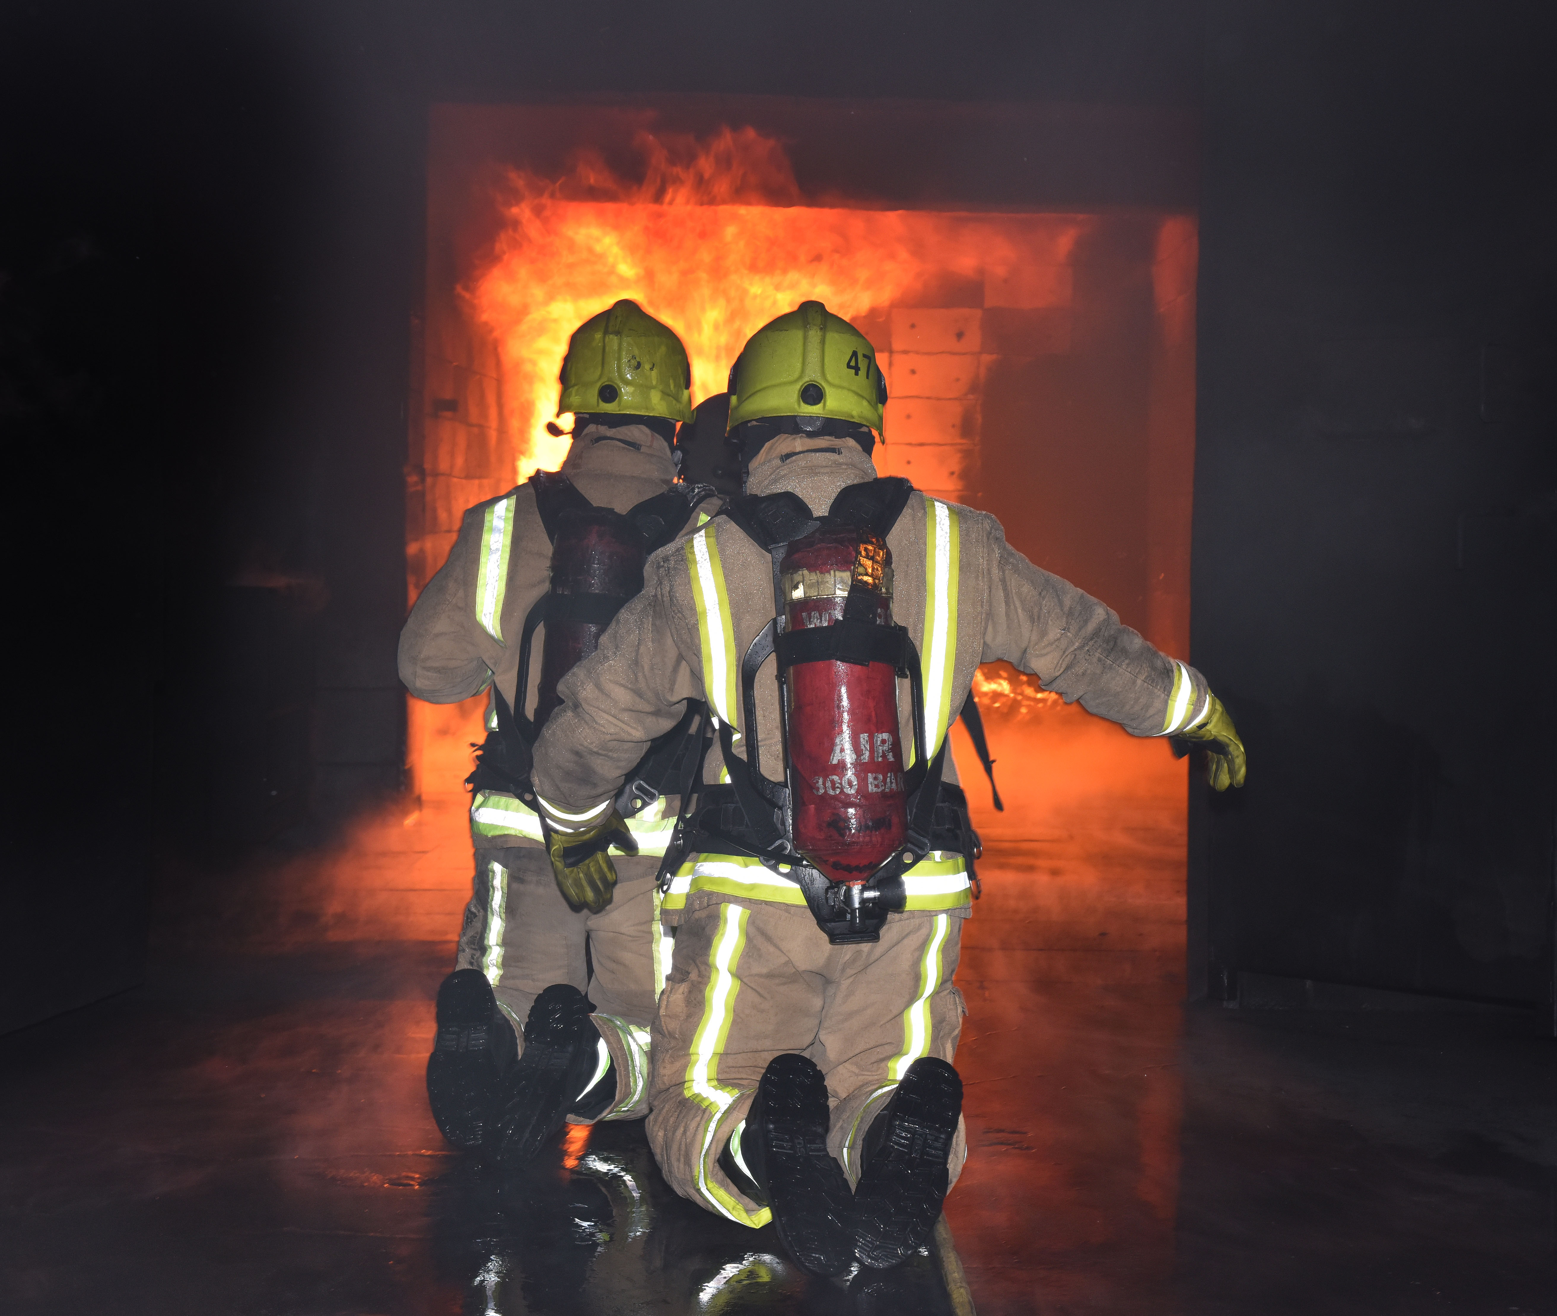
[[[492,984],[459,969],[438,989],[438,1037],[427,1057],[427,1104],[439,1132],[475,1151],[497,1126],[503,1076],[518,1054],[514,1028],[497,1008]]]

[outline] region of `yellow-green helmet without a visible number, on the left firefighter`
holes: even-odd
[[[690,420],[687,349],[637,302],[623,299],[573,330],[557,411]]]

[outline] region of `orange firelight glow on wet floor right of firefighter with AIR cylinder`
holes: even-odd
[[[1006,811],[970,786],[987,857],[947,1216],[982,1313],[1171,1311],[1186,769],[1054,702],[987,724]]]

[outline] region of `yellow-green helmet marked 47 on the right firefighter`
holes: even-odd
[[[764,324],[730,371],[730,428],[768,416],[830,416],[881,433],[886,378],[875,347],[821,302]]]

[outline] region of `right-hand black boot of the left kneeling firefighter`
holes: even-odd
[[[601,1037],[590,1019],[593,1009],[589,998],[567,983],[553,983],[529,1008],[525,1050],[503,1084],[497,1159],[504,1170],[528,1163],[585,1100],[585,1090],[596,1096]]]

